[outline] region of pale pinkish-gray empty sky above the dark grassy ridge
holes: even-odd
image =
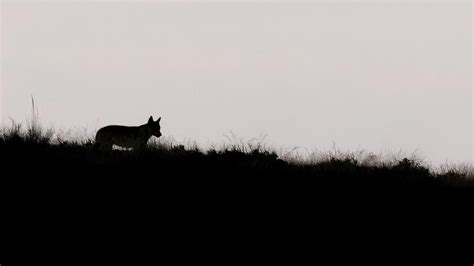
[[[472,161],[472,3],[3,1],[2,118]]]

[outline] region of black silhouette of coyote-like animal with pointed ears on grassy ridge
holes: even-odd
[[[95,144],[100,149],[111,150],[113,145],[122,148],[142,149],[145,148],[151,136],[161,137],[161,117],[153,121],[150,116],[148,123],[135,126],[106,126],[97,131]]]

